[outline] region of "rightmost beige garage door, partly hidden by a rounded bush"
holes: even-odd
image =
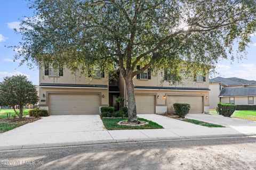
[[[174,103],[190,104],[189,113],[203,113],[203,96],[167,96],[168,113],[174,113]]]

